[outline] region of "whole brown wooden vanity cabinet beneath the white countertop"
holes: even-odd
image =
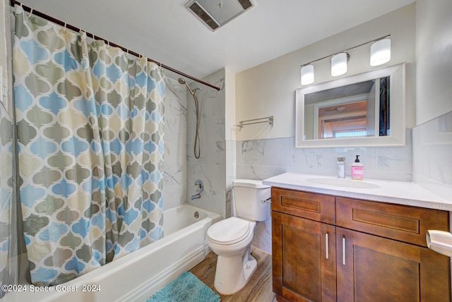
[[[448,212],[272,188],[278,301],[451,301]]]

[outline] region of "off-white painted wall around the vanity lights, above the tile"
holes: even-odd
[[[280,56],[236,75],[236,121],[275,116],[272,127],[258,124],[237,131],[237,140],[284,138],[295,135],[295,90],[300,84],[300,66],[323,56],[341,52],[369,40],[391,35],[391,61],[384,66],[407,63],[407,126],[415,126],[415,4],[363,23],[325,40]],[[271,43],[269,41],[269,43]],[[350,52],[346,77],[371,70],[370,46]],[[314,64],[315,82],[323,83],[341,77],[331,77],[330,61]]]

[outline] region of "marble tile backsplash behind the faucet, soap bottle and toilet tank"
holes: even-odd
[[[412,139],[404,147],[295,148],[295,138],[237,142],[237,178],[266,179],[284,172],[338,174],[337,157],[345,157],[350,177],[356,155],[364,164],[364,179],[412,181]]]

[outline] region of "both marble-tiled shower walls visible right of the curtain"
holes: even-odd
[[[235,142],[225,140],[225,70],[203,78],[220,87],[219,91],[191,83],[196,92],[200,121],[201,156],[194,157],[196,114],[194,98],[177,79],[167,78],[165,96],[164,209],[191,203],[230,217],[232,180],[235,179]],[[201,198],[194,183],[203,181]]]

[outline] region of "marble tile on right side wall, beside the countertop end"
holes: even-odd
[[[413,181],[452,200],[452,111],[413,128]]]

